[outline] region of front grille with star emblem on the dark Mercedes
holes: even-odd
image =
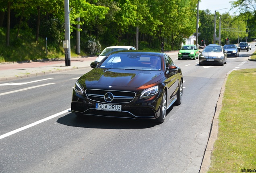
[[[86,89],[85,94],[88,99],[98,103],[129,103],[136,93],[130,91],[112,91],[112,90],[97,90]],[[110,98],[110,99],[109,99]]]

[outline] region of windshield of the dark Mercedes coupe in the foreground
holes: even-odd
[[[115,53],[102,62],[99,68],[130,70],[161,70],[161,58],[153,54]]]

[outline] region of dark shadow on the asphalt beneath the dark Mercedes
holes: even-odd
[[[167,110],[167,114],[171,111],[172,107]],[[169,115],[167,115],[167,118]],[[85,115],[77,117],[74,113],[69,113],[64,117],[60,117],[57,123],[91,129],[147,129],[160,125],[148,119],[124,119],[124,118],[111,118],[111,117],[98,117]]]

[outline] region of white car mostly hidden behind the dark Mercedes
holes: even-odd
[[[106,47],[101,52],[101,54],[95,59],[95,62],[99,63],[99,62],[101,62],[101,60],[103,60],[103,58],[105,58],[105,56],[109,55],[112,52],[116,52],[119,50],[136,50],[136,48],[133,46],[109,46],[109,47]]]

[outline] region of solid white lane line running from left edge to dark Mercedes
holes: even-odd
[[[0,139],[3,139],[3,138],[5,138],[5,137],[8,137],[8,136],[13,135],[13,134],[15,134],[15,133],[18,133],[18,132],[20,132],[20,131],[23,131],[23,130],[25,130],[25,129],[28,129],[28,128],[30,128],[30,127],[33,127],[33,126],[35,126],[35,125],[38,125],[38,124],[40,124],[40,123],[43,123],[44,121],[47,121],[47,120],[53,119],[53,118],[55,118],[55,117],[58,117],[59,115],[62,115],[62,114],[64,114],[64,113],[67,113],[68,110],[70,110],[70,109],[71,109],[71,108],[66,109],[65,111],[62,111],[62,112],[60,112],[60,113],[56,113],[56,114],[54,114],[54,115],[51,115],[50,117],[46,117],[46,118],[44,118],[44,119],[41,119],[41,120],[39,120],[39,121],[36,121],[35,123],[31,123],[31,124],[29,124],[29,125],[26,125],[26,126],[24,126],[24,127],[21,127],[21,128],[19,128],[19,129],[16,129],[16,130],[14,130],[14,131],[10,131],[10,132],[8,132],[8,133],[5,133],[4,135],[1,135],[1,136],[0,136]]]

